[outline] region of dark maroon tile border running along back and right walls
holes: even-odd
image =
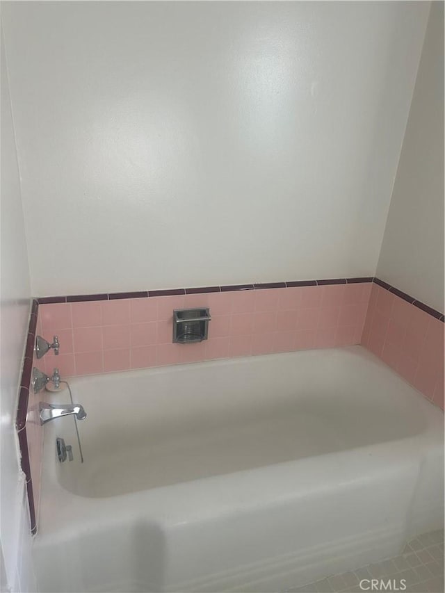
[[[286,282],[257,282],[254,284],[231,284],[229,286],[201,286],[191,287],[188,289],[166,289],[156,291],[136,291],[129,293],[102,293],[98,295],[67,295],[67,296],[54,296],[54,297],[42,297],[35,300],[35,304],[47,304],[47,303],[58,303],[58,302],[86,302],[94,300],[117,300],[124,298],[149,298],[158,296],[173,296],[173,295],[195,295],[195,294],[206,294],[206,293],[227,293],[232,291],[252,291],[252,290],[264,290],[264,289],[284,289],[294,288],[296,286],[329,286],[332,284],[361,284],[364,282],[374,282],[381,286],[383,289],[395,294],[399,298],[402,298],[406,302],[414,304],[415,307],[419,307],[422,311],[425,311],[429,315],[436,319],[444,320],[444,316],[439,311],[428,307],[423,302],[416,300],[414,297],[407,295],[403,291],[399,291],[395,286],[391,286],[384,280],[375,278],[373,276],[364,276],[357,278],[332,278],[332,279],[320,279],[320,280],[288,280]],[[35,318],[35,323],[37,317]]]

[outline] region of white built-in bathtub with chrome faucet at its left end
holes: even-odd
[[[277,592],[442,527],[442,412],[359,346],[71,385],[85,463],[48,423],[44,593]]]

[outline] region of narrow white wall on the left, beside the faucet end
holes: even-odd
[[[15,416],[29,324],[30,284],[11,117],[6,56],[1,39],[1,268],[0,268],[0,560],[2,590],[36,591],[25,478],[19,465]]]

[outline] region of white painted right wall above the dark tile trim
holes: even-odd
[[[444,311],[444,3],[433,2],[378,277]]]

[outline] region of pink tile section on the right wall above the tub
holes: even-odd
[[[362,344],[444,409],[444,323],[373,284]]]

